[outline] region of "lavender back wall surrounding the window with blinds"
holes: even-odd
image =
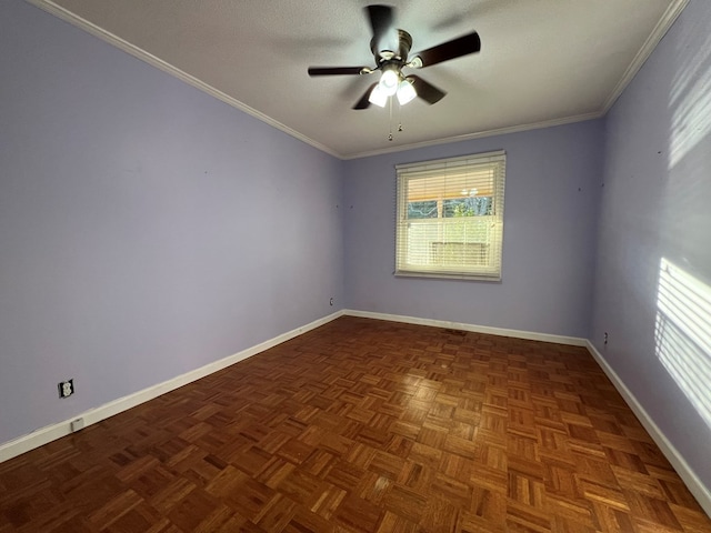
[[[602,122],[430,147],[346,164],[346,306],[588,336]],[[394,278],[394,165],[503,149],[501,283]]]

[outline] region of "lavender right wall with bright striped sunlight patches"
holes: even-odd
[[[711,487],[709,28],[692,0],[608,115],[591,339]]]

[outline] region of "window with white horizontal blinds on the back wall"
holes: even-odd
[[[395,275],[500,280],[505,153],[395,169]]]

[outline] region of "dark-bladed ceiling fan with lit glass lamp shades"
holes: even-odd
[[[401,105],[415,97],[420,97],[430,104],[437,103],[447,93],[419,76],[405,76],[402,69],[423,69],[481,50],[479,34],[473,31],[423,50],[409,60],[412,37],[407,31],[394,28],[394,8],[368,6],[365,11],[373,30],[370,49],[375,59],[375,68],[309,67],[309,76],[361,76],[381,71],[380,80],[368,88],[353,109],[367,109],[371,103],[382,108],[392,95],[397,95]]]

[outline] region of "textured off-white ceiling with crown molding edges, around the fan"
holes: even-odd
[[[685,4],[390,2],[413,53],[472,30],[482,41],[480,53],[418,72],[448,92],[443,100],[395,104],[391,118],[388,108],[351,109],[377,74],[307,74],[310,66],[374,66],[368,2],[29,1],[344,159],[600,117]]]

